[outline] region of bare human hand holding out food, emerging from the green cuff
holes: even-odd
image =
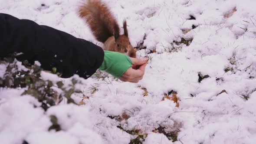
[[[145,68],[148,62],[148,56],[142,59],[131,58],[132,67],[128,68],[123,75],[119,78],[123,82],[138,83],[143,79]]]

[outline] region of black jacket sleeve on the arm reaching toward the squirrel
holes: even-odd
[[[22,52],[18,60],[39,61],[45,70],[56,67],[62,78],[78,74],[89,78],[104,58],[101,47],[74,36],[0,13],[0,57]]]

